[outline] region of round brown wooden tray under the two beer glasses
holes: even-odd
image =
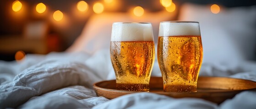
[[[93,84],[93,89],[98,96],[108,99],[139,93],[139,91],[118,90],[115,80],[101,81]],[[256,90],[256,82],[244,79],[234,79],[226,77],[199,77],[197,81],[197,92],[164,92],[162,77],[151,77],[149,92],[163,94],[173,98],[201,98],[220,104],[226,99],[231,99],[235,94],[244,90]]]

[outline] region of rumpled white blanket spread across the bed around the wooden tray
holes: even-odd
[[[23,62],[0,62],[0,108],[24,109],[254,109],[256,92],[245,91],[218,105],[203,99],[174,99],[136,93],[116,99],[97,97],[93,83],[115,79],[109,51],[95,55],[51,53],[27,55]],[[256,62],[202,65],[200,75],[256,81]],[[157,62],[152,76],[161,76]]]

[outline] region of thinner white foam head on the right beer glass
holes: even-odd
[[[200,36],[199,23],[189,21],[165,21],[160,23],[158,36],[168,37],[179,35]]]

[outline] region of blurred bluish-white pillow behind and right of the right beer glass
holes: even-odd
[[[234,64],[256,58],[256,6],[221,6],[218,14],[212,14],[210,5],[185,4],[179,20],[200,23],[203,63]]]

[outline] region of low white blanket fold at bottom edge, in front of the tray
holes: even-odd
[[[216,109],[217,104],[202,99],[174,99],[153,93],[127,94],[99,104],[93,109]]]

